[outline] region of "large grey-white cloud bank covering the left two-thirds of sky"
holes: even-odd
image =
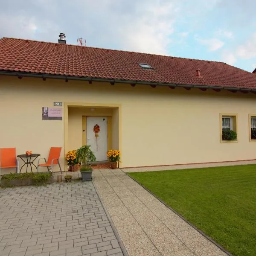
[[[82,37],[88,46],[156,54],[168,54],[181,12],[178,0],[12,1],[1,6],[0,37],[57,42],[64,32],[68,44]]]

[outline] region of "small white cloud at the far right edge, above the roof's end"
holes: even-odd
[[[240,45],[237,48],[236,55],[243,59],[256,57],[256,33],[254,33],[244,45]]]

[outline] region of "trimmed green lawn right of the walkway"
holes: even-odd
[[[256,165],[128,173],[235,256],[256,256]]]

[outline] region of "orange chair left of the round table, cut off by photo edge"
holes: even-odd
[[[0,174],[2,168],[16,168],[16,173],[19,172],[19,160],[16,159],[16,148],[0,148]]]

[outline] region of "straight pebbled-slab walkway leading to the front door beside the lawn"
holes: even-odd
[[[129,256],[227,256],[121,170],[93,179]]]

